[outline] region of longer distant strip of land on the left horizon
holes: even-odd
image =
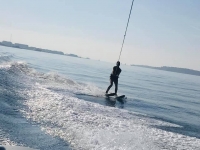
[[[75,55],[75,54],[64,54],[61,51],[55,51],[55,50],[49,50],[49,49],[43,49],[43,48],[37,48],[37,47],[29,47],[26,44],[12,43],[12,42],[9,42],[9,41],[2,41],[2,42],[0,42],[0,45],[6,46],[6,47],[13,47],[13,48],[19,48],[19,49],[25,49],[25,50],[32,50],[32,51],[38,51],[38,52],[44,52],[44,53],[52,53],[52,54],[82,58],[82,57]],[[89,59],[89,58],[85,58],[85,59]]]

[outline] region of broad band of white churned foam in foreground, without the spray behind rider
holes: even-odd
[[[80,88],[82,92],[84,87]],[[199,139],[154,127],[181,128],[174,124],[83,101],[72,93],[57,93],[39,83],[26,92],[30,97],[24,103],[28,106],[23,110],[26,117],[40,123],[46,133],[70,142],[74,149],[156,150],[200,146]]]

